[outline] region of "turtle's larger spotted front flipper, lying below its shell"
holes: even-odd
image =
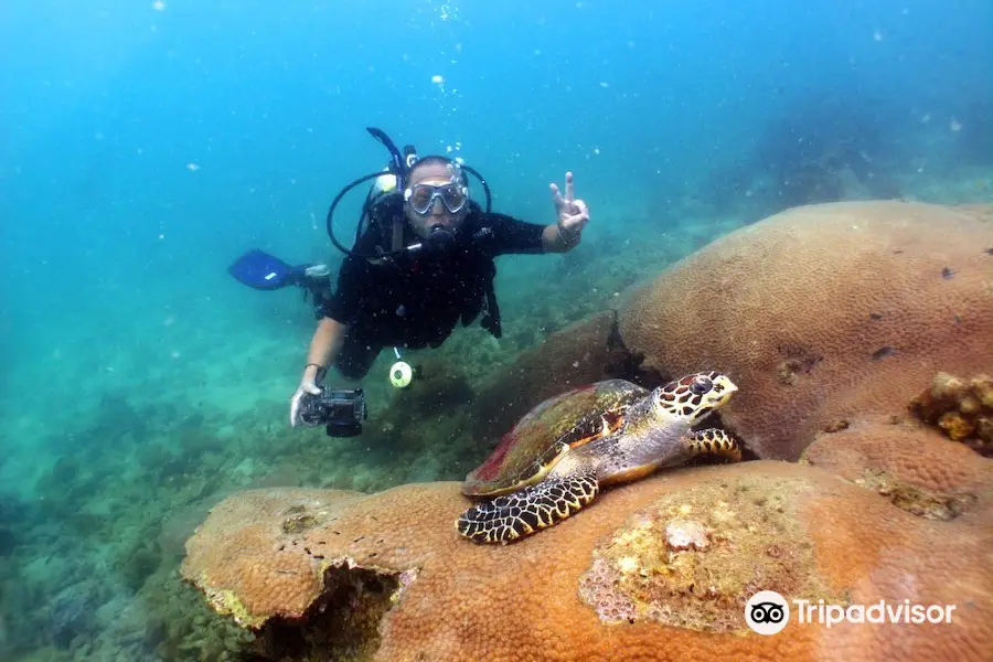
[[[546,478],[542,482],[473,505],[456,526],[477,543],[506,543],[554,526],[588,505],[600,485],[595,473]]]

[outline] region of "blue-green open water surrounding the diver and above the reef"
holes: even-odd
[[[225,267],[249,247],[337,265],[328,205],[386,158],[365,127],[462,157],[498,211],[534,222],[554,221],[548,183],[573,170],[591,210],[584,243],[601,243],[601,258],[656,235],[673,237],[675,258],[701,235],[803,202],[776,178],[811,142],[854,146],[866,181],[888,182],[876,196],[993,200],[985,0],[7,4],[3,659],[124,650],[106,620],[73,609],[136,600],[224,490],[311,484],[295,452],[324,441],[286,429],[310,311]],[[359,202],[344,204],[341,236]],[[691,229],[696,239],[680,238]],[[534,323],[528,284],[562,259],[500,263],[511,324]],[[650,275],[664,260],[639,264]],[[627,285],[590,269],[604,296]],[[492,348],[473,374],[520,349]],[[184,455],[192,428],[221,441]],[[359,489],[461,477],[355,452],[330,446],[317,484],[355,465]],[[190,508],[189,526],[166,524]],[[121,565],[166,528],[172,547]],[[63,595],[90,574],[99,591]],[[83,640],[98,643],[84,654]],[[171,659],[159,643],[141,654]]]

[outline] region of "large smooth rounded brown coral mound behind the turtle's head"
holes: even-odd
[[[936,372],[993,370],[993,225],[953,207],[798,207],[724,236],[619,309],[624,345],[673,375],[720,370],[722,410],[759,457],[903,416]]]

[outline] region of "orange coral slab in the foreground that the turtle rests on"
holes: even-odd
[[[980,660],[993,650],[993,477],[973,460],[985,487],[947,521],[815,467],[760,460],[613,489],[508,546],[457,535],[457,483],[246,491],[188,542],[182,573],[288,660]],[[762,637],[744,622],[760,588],[957,611],[928,626],[791,621]],[[320,655],[280,649],[292,623]]]

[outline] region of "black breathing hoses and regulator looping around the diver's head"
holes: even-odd
[[[338,248],[345,255],[351,255],[354,257],[362,257],[362,258],[367,258],[367,259],[396,259],[396,258],[401,258],[404,256],[413,256],[413,255],[424,254],[427,252],[434,252],[435,249],[446,250],[447,248],[449,248],[451,245],[455,244],[455,235],[452,234],[452,232],[450,229],[447,229],[444,226],[437,226],[437,225],[431,228],[427,238],[425,238],[416,244],[413,244],[410,246],[406,246],[406,247],[403,246],[403,224],[405,222],[404,218],[394,220],[393,242],[392,242],[392,246],[391,246],[391,249],[388,253],[362,253],[362,252],[354,250],[354,249],[343,246],[335,238],[334,227],[333,227],[334,210],[338,207],[338,204],[341,202],[342,197],[344,197],[344,195],[349,191],[351,191],[355,186],[363,184],[370,180],[383,178],[380,180],[380,182],[383,182],[384,180],[388,179],[389,175],[392,175],[396,182],[396,184],[395,184],[396,188],[394,190],[395,193],[403,194],[403,192],[406,191],[410,170],[417,163],[417,151],[414,149],[413,146],[405,147],[404,151],[401,152],[401,150],[397,149],[396,143],[393,142],[393,140],[389,139],[389,136],[387,136],[381,129],[377,129],[375,127],[367,127],[365,130],[369,131],[373,138],[378,140],[386,148],[386,150],[389,152],[389,160],[387,162],[385,172],[383,170],[378,170],[376,172],[372,172],[370,174],[360,177],[359,179],[356,179],[356,180],[352,181],[350,184],[348,184],[344,189],[342,189],[338,193],[338,195],[334,196],[334,200],[331,202],[331,206],[328,209],[328,218],[327,218],[328,237],[331,239],[331,243],[334,245],[335,248]],[[490,194],[490,186],[487,184],[487,181],[482,178],[482,175],[480,175],[479,172],[477,172],[469,166],[466,166],[465,163],[458,163],[456,161],[452,161],[451,166],[453,168],[453,172],[452,172],[452,182],[453,183],[456,181],[459,181],[459,182],[461,182],[462,185],[466,185],[467,180],[463,174],[463,171],[472,174],[473,177],[476,177],[476,179],[479,180],[479,182],[482,184],[483,191],[485,192],[485,195],[487,195],[485,211],[487,211],[487,213],[490,213],[490,211],[492,209],[492,196]],[[382,188],[385,188],[385,185],[386,184],[380,183],[378,188],[382,189]],[[391,194],[393,194],[393,193],[391,193]],[[442,202],[444,202],[444,200],[442,200]],[[361,233],[362,233],[363,220],[365,218],[366,214],[370,211],[370,207],[373,206],[373,204],[374,204],[374,199],[372,196],[372,192],[370,192],[370,194],[366,195],[365,204],[363,204],[362,213],[359,216],[359,225],[357,225],[356,232],[355,232],[356,241],[361,236]],[[431,201],[431,204],[434,204],[434,200]]]

